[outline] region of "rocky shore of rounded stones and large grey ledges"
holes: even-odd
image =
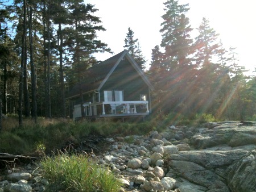
[[[92,157],[121,179],[120,191],[256,191],[255,122],[170,126],[106,140],[109,149]],[[44,191],[46,185],[40,162],[0,176],[0,191]]]

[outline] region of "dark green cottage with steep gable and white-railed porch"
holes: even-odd
[[[151,111],[153,89],[125,50],[89,68],[86,82],[75,85],[66,99],[73,119],[80,118],[82,112],[88,118],[145,116]]]

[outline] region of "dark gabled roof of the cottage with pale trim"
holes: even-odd
[[[92,93],[93,91],[100,90],[101,87],[104,86],[105,82],[108,81],[108,78],[114,72],[115,68],[117,68],[120,61],[122,61],[123,57],[126,57],[126,59],[138,72],[139,76],[141,76],[142,80],[147,84],[147,86],[151,90],[154,90],[154,87],[148,81],[143,70],[139,68],[138,64],[135,62],[133,57],[131,57],[129,52],[125,50],[89,68],[86,71],[86,82],[82,85],[75,85],[69,92],[68,98],[66,99],[78,97],[80,86],[83,91],[83,94]]]

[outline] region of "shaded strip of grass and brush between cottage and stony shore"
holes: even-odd
[[[10,121],[10,122],[9,122]],[[72,122],[65,119],[31,119],[24,120],[24,126],[18,127],[17,118],[9,118],[4,122],[0,134],[0,151],[15,154],[40,155],[62,149],[69,143],[79,144],[89,135],[147,135],[156,123],[154,120],[141,123],[131,122]]]

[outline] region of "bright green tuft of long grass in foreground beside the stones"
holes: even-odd
[[[107,169],[86,155],[59,152],[42,160],[44,177],[51,185],[48,191],[119,191],[121,182]],[[56,189],[58,188],[58,189]]]

